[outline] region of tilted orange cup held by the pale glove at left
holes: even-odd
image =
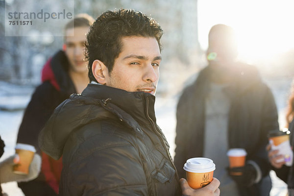
[[[23,175],[28,174],[29,165],[33,160],[35,152],[35,147],[31,145],[17,144],[15,153],[19,155],[19,162],[13,166],[13,172]]]

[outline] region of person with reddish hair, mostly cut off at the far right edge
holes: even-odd
[[[290,96],[288,99],[287,113],[286,113],[286,127],[290,131],[290,144],[294,149],[294,80],[292,83]],[[277,162],[277,160],[284,158],[279,154],[278,150],[270,150],[271,145],[268,147],[268,156],[272,170],[276,172],[276,175],[282,179],[288,185],[288,195],[294,196],[294,166],[286,166],[285,161]]]

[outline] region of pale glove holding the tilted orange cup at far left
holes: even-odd
[[[38,177],[42,162],[40,155],[34,154],[34,158],[29,166],[29,173],[27,175],[16,174],[13,172],[13,166],[18,163],[18,161],[18,155],[13,155],[0,162],[0,183],[30,181]]]

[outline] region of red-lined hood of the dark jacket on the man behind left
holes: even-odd
[[[68,74],[69,61],[64,51],[54,54],[42,69],[42,82],[49,81],[57,91],[71,95],[76,92]]]

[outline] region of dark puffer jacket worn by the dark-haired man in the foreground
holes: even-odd
[[[39,136],[63,154],[60,196],[175,196],[178,177],[156,125],[155,97],[89,84],[60,104]]]

